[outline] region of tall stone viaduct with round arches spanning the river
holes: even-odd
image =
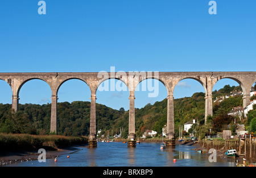
[[[51,73],[0,73],[0,80],[5,80],[12,89],[12,108],[18,111],[19,90],[27,81],[40,79],[52,90],[51,132],[57,133],[57,93],[60,86],[73,78],[84,81],[90,88],[90,135],[89,140],[96,139],[96,90],[105,80],[115,78],[124,82],[130,92],[129,107],[129,140],[135,140],[135,108],[134,92],[139,82],[147,78],[159,80],[167,89],[167,140],[174,140],[174,88],[185,79],[192,78],[199,81],[205,90],[205,119],[212,115],[212,89],[214,84],[222,78],[231,78],[241,85],[243,90],[243,107],[250,104],[250,89],[256,80],[256,72],[51,72]],[[94,142],[94,141],[93,141]],[[129,144],[129,143],[128,143]],[[170,143],[169,145],[172,145]],[[89,144],[90,145],[90,144]],[[168,142],[167,142],[168,145]],[[95,144],[93,147],[96,147]]]

